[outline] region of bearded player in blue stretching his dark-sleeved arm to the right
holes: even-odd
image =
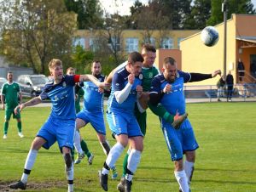
[[[150,102],[162,104],[173,116],[176,113],[184,114],[186,111],[183,83],[199,82],[221,74],[213,71],[212,74],[185,73],[177,70],[175,59],[164,59],[163,74],[155,76],[150,88]],[[174,161],[174,174],[180,191],[189,192],[189,182],[192,178],[195,163],[195,150],[199,147],[189,119],[183,121],[179,129],[175,129],[163,118],[160,118],[162,131],[166,138],[168,150]],[[186,160],[183,165],[183,154]]]

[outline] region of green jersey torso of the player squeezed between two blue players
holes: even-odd
[[[146,68],[143,67],[143,91],[148,92],[151,86],[152,79],[158,75],[159,71],[156,67]]]

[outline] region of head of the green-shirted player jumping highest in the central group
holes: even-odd
[[[155,54],[156,50],[151,44],[143,44],[142,55],[143,55],[143,66],[144,67],[152,67],[154,64],[154,60],[156,58]]]

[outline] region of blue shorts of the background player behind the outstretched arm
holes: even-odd
[[[88,110],[82,110],[77,114],[77,118],[82,119],[86,124],[90,122],[97,133],[106,135],[103,111],[90,112]]]

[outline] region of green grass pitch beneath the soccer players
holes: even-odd
[[[20,179],[32,139],[49,116],[49,110],[32,107],[22,112],[25,138],[18,137],[16,121],[10,121],[8,138],[0,138],[0,191],[11,191],[8,184]],[[187,111],[200,144],[192,191],[256,191],[256,103],[187,104]],[[2,120],[3,117],[4,111],[0,110]],[[107,132],[108,140],[114,144],[108,127]],[[97,170],[102,168],[106,156],[90,126],[81,129],[81,133],[95,159],[91,166],[85,159],[75,165],[75,191],[103,191],[98,184]],[[124,154],[116,163],[119,175]],[[108,183],[108,191],[117,191],[118,181],[110,179]],[[56,144],[38,153],[27,191],[67,191],[64,162]],[[160,123],[149,110],[143,156],[132,191],[178,191]]]

